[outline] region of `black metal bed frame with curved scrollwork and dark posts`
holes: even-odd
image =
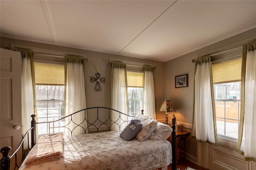
[[[95,112],[96,110],[96,112]],[[99,110],[106,110],[103,112],[99,112]],[[110,115],[111,113],[116,112],[116,114],[119,115],[117,120],[112,120]],[[141,111],[143,114],[143,110]],[[84,120],[82,121],[82,123],[75,123],[73,121],[74,115],[78,114],[78,113],[83,113],[84,114]],[[97,115],[96,119],[93,121],[89,121],[87,116],[88,114],[93,114],[93,115]],[[102,114],[108,114],[108,118],[106,120],[102,120],[99,115]],[[70,131],[71,135],[72,132],[74,131],[74,129],[76,128],[82,128],[84,130],[84,133],[86,133],[86,131],[88,132],[89,127],[94,127],[96,128],[96,133],[98,133],[99,131],[101,131],[101,129],[103,129],[102,131],[111,131],[111,127],[113,125],[118,125],[119,129],[121,128],[121,126],[126,123],[129,122],[130,120],[123,120],[121,118],[121,115],[127,115],[125,113],[122,113],[120,111],[117,111],[115,109],[111,109],[108,107],[90,107],[90,108],[86,108],[86,109],[82,109],[80,111],[76,111],[75,113],[72,113],[71,115],[62,117],[61,119],[55,120],[55,121],[48,121],[48,122],[36,122],[35,117],[36,115],[31,115],[32,117],[32,121],[31,121],[31,128],[26,132],[25,135],[22,135],[22,141],[20,142],[20,145],[18,146],[18,148],[12,153],[11,156],[9,156],[9,152],[10,150],[12,150],[11,147],[3,147],[0,152],[2,153],[2,159],[0,160],[0,169],[1,170],[10,170],[10,163],[11,163],[11,158],[13,156],[15,156],[15,166],[14,166],[14,170],[17,168],[19,168],[18,164],[17,164],[17,152],[19,149],[22,149],[22,161],[24,161],[26,155],[28,154],[28,152],[30,151],[30,146],[29,146],[29,133],[31,134],[31,149],[34,147],[34,145],[36,145],[36,125],[37,124],[41,124],[41,123],[47,123],[48,124],[48,133],[50,133],[50,129],[53,129],[53,133],[54,133],[54,128],[65,128],[68,129],[68,131]],[[133,118],[135,116],[133,115],[127,115],[130,118]],[[55,126],[54,127],[54,123],[58,122],[58,121],[63,121],[66,118],[70,118],[70,120],[68,121],[68,123],[65,123],[64,126]],[[74,127],[72,129],[70,129],[68,127],[69,124],[74,123]],[[83,123],[87,123],[87,127],[84,128],[82,127]],[[101,123],[99,125],[97,125],[97,123]],[[95,125],[96,124],[96,125]],[[172,117],[172,139],[170,142],[172,143],[172,170],[176,170],[176,131],[175,131],[175,124],[176,124],[176,118],[173,116]],[[95,133],[93,132],[93,133]],[[90,133],[90,132],[89,132]],[[24,140],[26,139],[28,140],[28,152],[24,152]]]

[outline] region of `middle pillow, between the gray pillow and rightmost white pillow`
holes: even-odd
[[[143,142],[147,140],[153,132],[156,133],[158,130],[157,121],[142,114],[137,114],[134,119],[138,119],[142,123],[142,127],[139,133],[136,135],[136,139]]]

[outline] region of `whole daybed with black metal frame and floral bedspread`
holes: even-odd
[[[74,116],[78,113],[86,115],[82,123],[73,122]],[[105,116],[106,119],[102,120],[102,114],[107,115],[107,117]],[[111,114],[118,114],[118,119],[113,120],[110,116]],[[129,119],[124,120],[122,115],[125,114],[114,109],[107,107],[86,108],[69,115],[69,121],[63,126],[56,127],[55,125],[56,122],[61,120],[45,122],[50,134],[44,135],[38,140],[36,140],[36,125],[41,123],[37,123],[35,115],[32,115],[32,128],[30,129],[32,149],[28,149],[30,152],[24,158],[22,164],[20,166],[16,164],[16,166],[20,170],[157,170],[158,168],[167,170],[167,166],[172,163],[172,170],[175,170],[176,154],[174,153],[176,153],[176,140],[172,140],[170,143],[166,139],[154,139],[153,134],[156,135],[157,131],[160,131],[159,128],[155,128],[154,133],[151,133],[150,137],[146,137],[147,139],[145,140],[140,139],[138,136],[143,131],[142,129],[136,137],[130,140],[124,140],[125,138],[123,138],[122,134],[124,134],[125,129],[124,131],[111,131],[113,126],[117,126],[119,129],[122,126],[128,127],[127,124],[130,124],[134,118],[142,117],[144,119],[146,116],[142,114],[136,116],[128,115]],[[62,120],[67,118],[63,117]],[[89,118],[90,121],[88,121]],[[149,121],[148,119],[147,121]],[[153,121],[156,122],[156,120],[150,119],[151,123]],[[172,120],[172,129],[175,129],[175,121],[174,118]],[[75,125],[72,129],[70,129],[70,123]],[[82,127],[84,123],[86,123],[87,127]],[[160,123],[156,123],[158,123],[156,127],[160,127]],[[143,127],[146,126],[143,124]],[[54,132],[54,129],[58,128],[68,129],[70,135],[65,136],[62,132]],[[77,128],[82,128],[85,134],[73,135],[74,129]],[[175,139],[175,135],[174,130],[172,131],[172,139]],[[145,137],[145,135],[142,136]],[[8,155],[9,151],[10,147],[1,149],[3,155]],[[10,158],[15,153],[16,151],[10,157],[3,156],[1,170],[9,170]]]

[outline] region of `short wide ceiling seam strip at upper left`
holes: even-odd
[[[46,17],[46,20],[47,20],[47,23],[48,23],[48,26],[49,26],[49,29],[50,29],[50,33],[52,35],[52,40],[53,40],[54,43],[58,43],[55,31],[54,31],[54,26],[53,26],[53,23],[52,23],[52,17],[51,17],[51,14],[50,14],[50,10],[48,8],[47,0],[41,0],[41,4],[42,4],[44,14],[45,14],[45,17]]]

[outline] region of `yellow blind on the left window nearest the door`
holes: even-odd
[[[34,61],[36,84],[64,85],[64,63]]]

